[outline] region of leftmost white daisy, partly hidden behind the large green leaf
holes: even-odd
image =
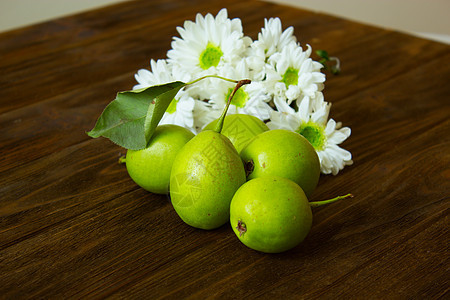
[[[173,66],[166,60],[159,59],[150,61],[151,71],[141,69],[135,74],[136,81],[139,83],[133,89],[146,88],[153,85],[165,84],[173,81],[188,82],[190,76],[187,73],[173,70]],[[164,113],[160,125],[174,124],[185,127],[192,132],[195,131],[194,126],[194,107],[195,102],[189,93],[185,90],[180,90],[172,102],[169,104]]]

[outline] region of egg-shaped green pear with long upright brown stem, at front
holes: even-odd
[[[214,130],[202,131],[190,140],[173,163],[172,205],[185,223],[196,228],[214,229],[227,223],[231,199],[246,180],[239,154],[220,133],[232,96]]]

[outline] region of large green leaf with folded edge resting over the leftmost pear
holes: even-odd
[[[106,137],[126,149],[144,149],[170,102],[184,86],[186,83],[175,81],[119,92],[87,134]]]

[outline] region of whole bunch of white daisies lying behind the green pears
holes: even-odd
[[[151,71],[135,75],[134,89],[189,82],[205,75],[250,79],[233,97],[229,113],[249,114],[270,129],[288,129],[306,137],[314,146],[324,174],[336,175],[352,164],[352,155],[338,145],[351,130],[329,119],[330,103],[324,101],[323,65],[310,58],[294,36],[293,27],[282,31],[279,18],[264,20],[258,39],[244,36],[241,20],[229,19],[226,9],[214,18],[197,14],[195,22],[177,28],[167,59],[150,61]],[[176,124],[198,133],[217,119],[235,84],[207,78],[188,85],[173,99],[160,124]]]

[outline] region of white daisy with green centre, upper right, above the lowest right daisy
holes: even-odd
[[[272,66],[267,70],[268,90],[273,91],[274,103],[280,106],[291,104],[292,101],[303,99],[305,96],[313,98],[316,92],[323,90],[325,75],[320,72],[322,64],[313,61],[311,47],[306,51],[295,43],[290,43],[281,52],[269,58]]]

